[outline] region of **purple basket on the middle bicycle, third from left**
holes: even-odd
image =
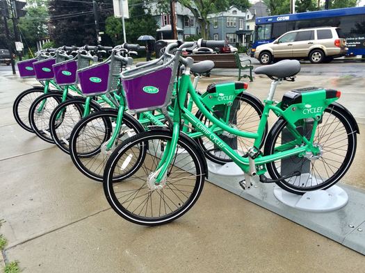
[[[77,81],[77,60],[66,60],[52,65],[54,79],[58,85],[73,85]]]

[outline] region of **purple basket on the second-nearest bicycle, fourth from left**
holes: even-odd
[[[79,70],[81,92],[86,96],[107,92],[109,69],[108,63],[101,63]]]

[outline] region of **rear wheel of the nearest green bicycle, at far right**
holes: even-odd
[[[310,120],[298,122],[297,130],[310,139],[312,125]],[[290,133],[284,119],[280,119],[266,138],[264,154],[282,151],[279,147],[286,145],[286,150],[300,146],[295,136]],[[266,164],[268,173],[273,179],[300,172],[277,182],[280,188],[297,195],[313,190],[325,190],[337,183],[346,174],[355,157],[357,144],[356,130],[343,111],[333,105],[328,106],[316,129],[313,145],[318,153],[305,157],[291,156]]]

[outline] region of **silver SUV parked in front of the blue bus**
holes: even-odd
[[[340,37],[340,28],[336,27],[289,31],[274,42],[257,47],[254,58],[262,65],[268,65],[274,59],[280,58],[309,58],[311,63],[330,62],[333,58],[346,55],[348,51],[346,40]]]

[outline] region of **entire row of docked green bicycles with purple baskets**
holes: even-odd
[[[42,87],[19,94],[15,119],[103,182],[113,210],[136,224],[184,215],[209,178],[208,161],[236,163],[245,173],[243,190],[276,183],[303,195],[337,183],[355,157],[359,133],[336,102],[341,92],[300,88],[275,101],[277,85],[300,72],[297,60],[255,69],[272,79],[263,102],[243,82],[213,83],[200,92],[197,82],[214,64],[194,63],[181,51],[224,43],[173,42],[160,58],[136,67],[130,57],[141,49],[136,44],[41,51],[18,63],[21,76],[35,76]],[[110,56],[98,63],[93,55],[100,53]],[[277,120],[269,129],[270,113]]]

